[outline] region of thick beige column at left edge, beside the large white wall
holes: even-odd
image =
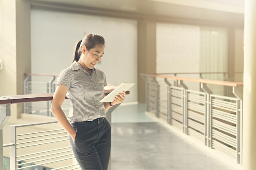
[[[30,73],[30,2],[0,0],[0,94],[23,94],[24,73]],[[23,104],[12,105],[10,119],[20,117]],[[17,112],[16,112],[17,110]]]

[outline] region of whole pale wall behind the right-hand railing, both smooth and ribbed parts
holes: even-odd
[[[157,23],[157,73],[226,72],[227,35],[225,28]],[[200,78],[198,74],[177,76]],[[224,79],[222,74],[203,77]],[[198,83],[184,83],[190,90],[199,89]],[[223,93],[222,86],[208,86]]]

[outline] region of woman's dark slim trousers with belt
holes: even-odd
[[[76,130],[75,142],[70,144],[82,170],[107,170],[110,159],[111,127],[107,119],[71,124]]]

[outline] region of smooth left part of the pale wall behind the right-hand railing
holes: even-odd
[[[157,73],[198,73],[199,57],[199,26],[157,23]],[[198,74],[177,76],[199,78]],[[198,83],[184,83],[190,90],[199,89]]]

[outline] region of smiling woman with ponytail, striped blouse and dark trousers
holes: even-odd
[[[113,102],[99,102],[104,97],[106,76],[94,66],[104,54],[101,35],[88,34],[77,42],[73,63],[57,79],[51,111],[70,135],[70,143],[82,170],[107,170],[110,159],[111,128],[105,110],[125,99],[119,93]],[[67,96],[70,112],[66,118],[61,105]]]

